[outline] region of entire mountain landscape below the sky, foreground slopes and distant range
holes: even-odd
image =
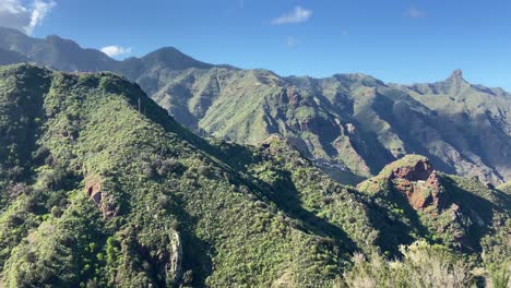
[[[461,71],[283,77],[9,28],[0,61],[0,287],[511,284],[511,96]]]

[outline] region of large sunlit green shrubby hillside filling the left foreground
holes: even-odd
[[[289,283],[335,275],[335,243],[258,201],[264,190],[190,144],[135,85],[28,65],[0,73],[5,286],[263,286],[283,272]]]

